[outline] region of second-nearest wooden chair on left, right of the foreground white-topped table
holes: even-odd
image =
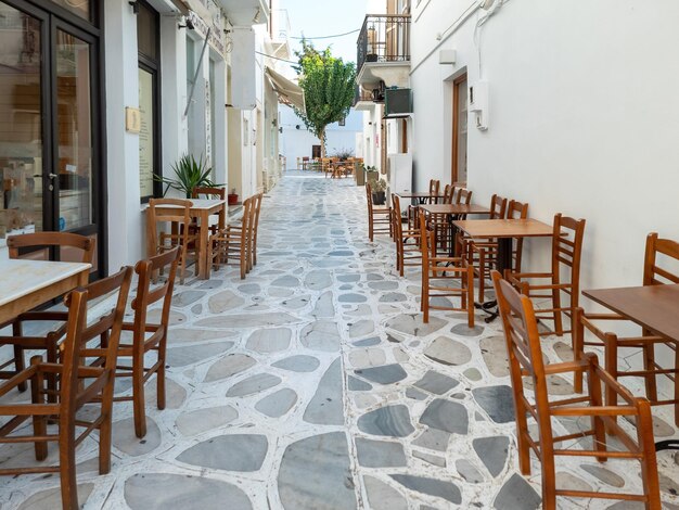
[[[137,295],[132,301],[134,318],[132,322],[123,324],[123,330],[131,332],[132,339],[131,343],[124,339],[118,348],[119,358],[131,358],[131,360],[127,361],[127,365],[123,361],[119,362],[116,371],[116,378],[132,378],[132,395],[116,397],[115,401],[132,400],[137,437],[146,435],[144,384],[154,373],[157,378],[157,407],[165,409],[167,329],[169,328],[172,291],[180,257],[180,248],[176,246],[161,255],[140,260],[134,266],[134,272],[138,277]],[[167,269],[167,279],[162,284],[152,288],[153,275],[164,269]],[[148,319],[149,307],[158,302],[163,305],[161,319],[157,323],[151,323]],[[156,352],[156,361],[151,367],[145,367],[144,358],[151,350]]]

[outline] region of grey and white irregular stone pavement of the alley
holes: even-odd
[[[499,324],[479,318],[469,329],[444,313],[422,323],[420,273],[399,278],[388,239],[368,242],[364,207],[363,188],[350,180],[291,173],[264,201],[259,260],[247,279],[230,267],[177,288],[167,409],[155,409],[150,382],[149,433],[139,441],[131,405],[116,404],[107,475],[97,473],[95,438],[80,446],[86,508],[540,506],[539,466],[527,479],[516,468]],[[569,359],[567,343],[546,341],[547,356]],[[551,386],[572,392],[567,379]],[[116,392],[129,393],[127,381]],[[676,437],[667,408],[656,412],[657,437]],[[3,447],[0,463],[31,452]],[[679,509],[679,455],[658,459],[663,498]],[[615,460],[568,459],[558,472],[580,489],[640,486],[638,467]],[[2,509],[59,506],[55,476],[3,477],[0,487]]]

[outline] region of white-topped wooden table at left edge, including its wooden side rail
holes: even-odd
[[[0,260],[0,323],[87,284],[90,264]]]

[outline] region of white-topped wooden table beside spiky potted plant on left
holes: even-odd
[[[213,215],[219,216],[219,229],[223,229],[227,221],[227,201],[226,200],[213,200],[213,199],[189,199],[193,206],[191,206],[190,214],[192,217],[198,218],[198,259],[197,259],[197,277],[202,280],[209,278],[209,271],[212,268],[210,263],[210,250],[208,246],[209,241],[209,217]],[[157,207],[158,211],[177,208],[176,205],[164,205]],[[153,231],[155,225],[150,225],[146,221],[146,254],[149,256],[155,255],[156,247],[153,244]]]

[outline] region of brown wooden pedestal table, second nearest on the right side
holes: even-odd
[[[456,228],[470,238],[497,239],[498,259],[497,269],[504,275],[505,269],[512,268],[512,240],[517,238],[551,238],[553,227],[537,219],[459,219],[452,222]],[[481,308],[490,314],[486,322],[498,317],[497,301],[482,303]]]

